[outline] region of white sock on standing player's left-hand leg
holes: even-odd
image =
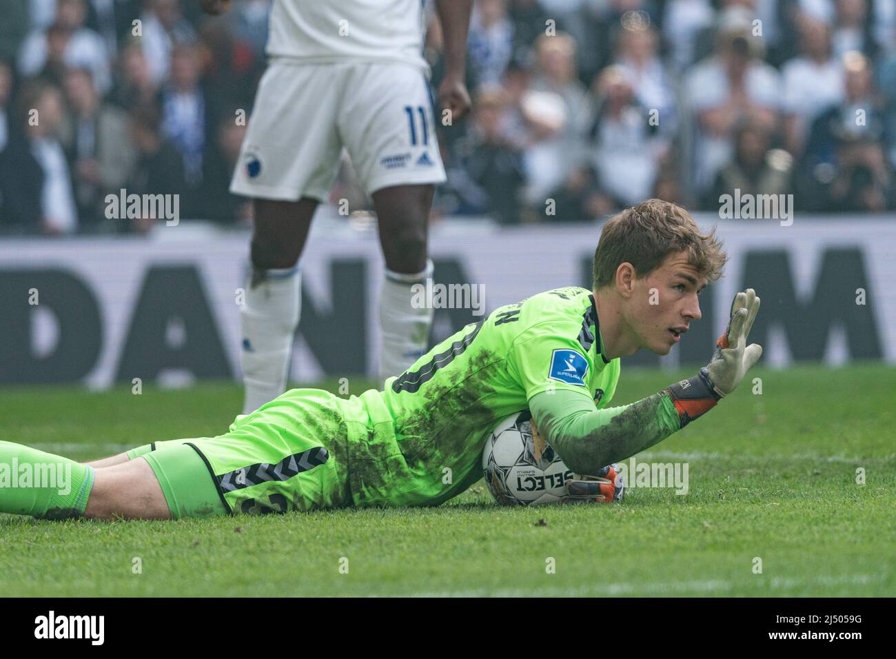
[[[239,309],[245,414],[286,391],[300,296],[301,275],[297,267],[262,271],[253,268],[246,286],[246,304]]]

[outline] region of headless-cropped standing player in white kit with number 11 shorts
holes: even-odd
[[[229,0],[200,0],[207,13]],[[286,389],[300,308],[297,262],[317,204],[349,152],[373,198],[385,260],[381,377],[426,352],[432,308],[411,287],[433,264],[426,235],[435,184],[445,180],[422,56],[425,0],[273,0],[267,55],[230,191],[252,197],[252,275],[240,308],[244,412]],[[445,75],[439,109],[470,108],[464,85],[472,0],[435,0]]]

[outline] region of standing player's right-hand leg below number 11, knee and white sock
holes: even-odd
[[[426,352],[432,304],[412,304],[416,283],[432,277],[432,262],[426,258],[429,212],[435,187],[393,186],[377,190],[374,205],[379,223],[380,244],[386,262],[380,297],[383,350],[381,379],[399,375]]]

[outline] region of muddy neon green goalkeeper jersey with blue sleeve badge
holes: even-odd
[[[619,360],[602,351],[589,290],[548,290],[495,309],[386,380],[340,399],[355,506],[438,505],[482,477],[488,433],[534,395],[568,390],[604,407]]]

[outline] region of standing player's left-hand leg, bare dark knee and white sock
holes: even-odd
[[[298,326],[301,280],[297,270],[317,200],[254,199],[252,274],[243,328],[243,412],[253,412],[286,390],[293,334]]]

